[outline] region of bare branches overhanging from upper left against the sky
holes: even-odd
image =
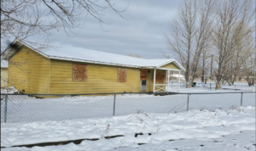
[[[106,23],[102,20],[106,8],[111,8],[124,18],[121,13],[126,8],[118,10],[114,8],[114,4],[109,0],[1,1],[1,42],[17,38],[32,43],[33,46],[37,45],[38,48],[45,48],[52,41],[52,31],[64,29],[68,36],[73,36],[72,30],[84,25],[84,20],[89,15],[101,25]],[[40,37],[32,40],[28,38],[31,36]]]

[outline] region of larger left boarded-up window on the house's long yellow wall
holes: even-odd
[[[87,65],[73,64],[73,81],[87,81]]]

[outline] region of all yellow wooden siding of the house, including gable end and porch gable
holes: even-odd
[[[73,64],[88,66],[87,81],[73,81]],[[162,67],[178,69],[173,63]],[[118,68],[127,69],[126,82],[117,81]],[[147,92],[153,92],[153,72],[148,73]],[[166,70],[157,72],[166,73]],[[24,93],[42,94],[140,92],[141,80],[140,69],[46,59],[22,46],[9,59],[9,86],[15,86],[20,92],[25,90]]]

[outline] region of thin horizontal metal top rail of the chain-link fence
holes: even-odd
[[[31,95],[31,96],[79,96],[79,95],[109,95],[109,94],[228,94],[228,93],[256,93],[256,92],[111,92],[111,93],[80,93],[80,94],[24,94],[24,93],[1,93],[1,95]]]

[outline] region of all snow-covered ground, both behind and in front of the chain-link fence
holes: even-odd
[[[117,95],[114,107],[113,95],[42,99],[17,94],[9,96],[7,123],[1,101],[1,147],[6,147],[1,150],[255,150],[256,93],[249,88],[241,90],[242,96],[239,90],[207,87],[182,87],[192,94]],[[98,140],[12,147],[77,139]]]

